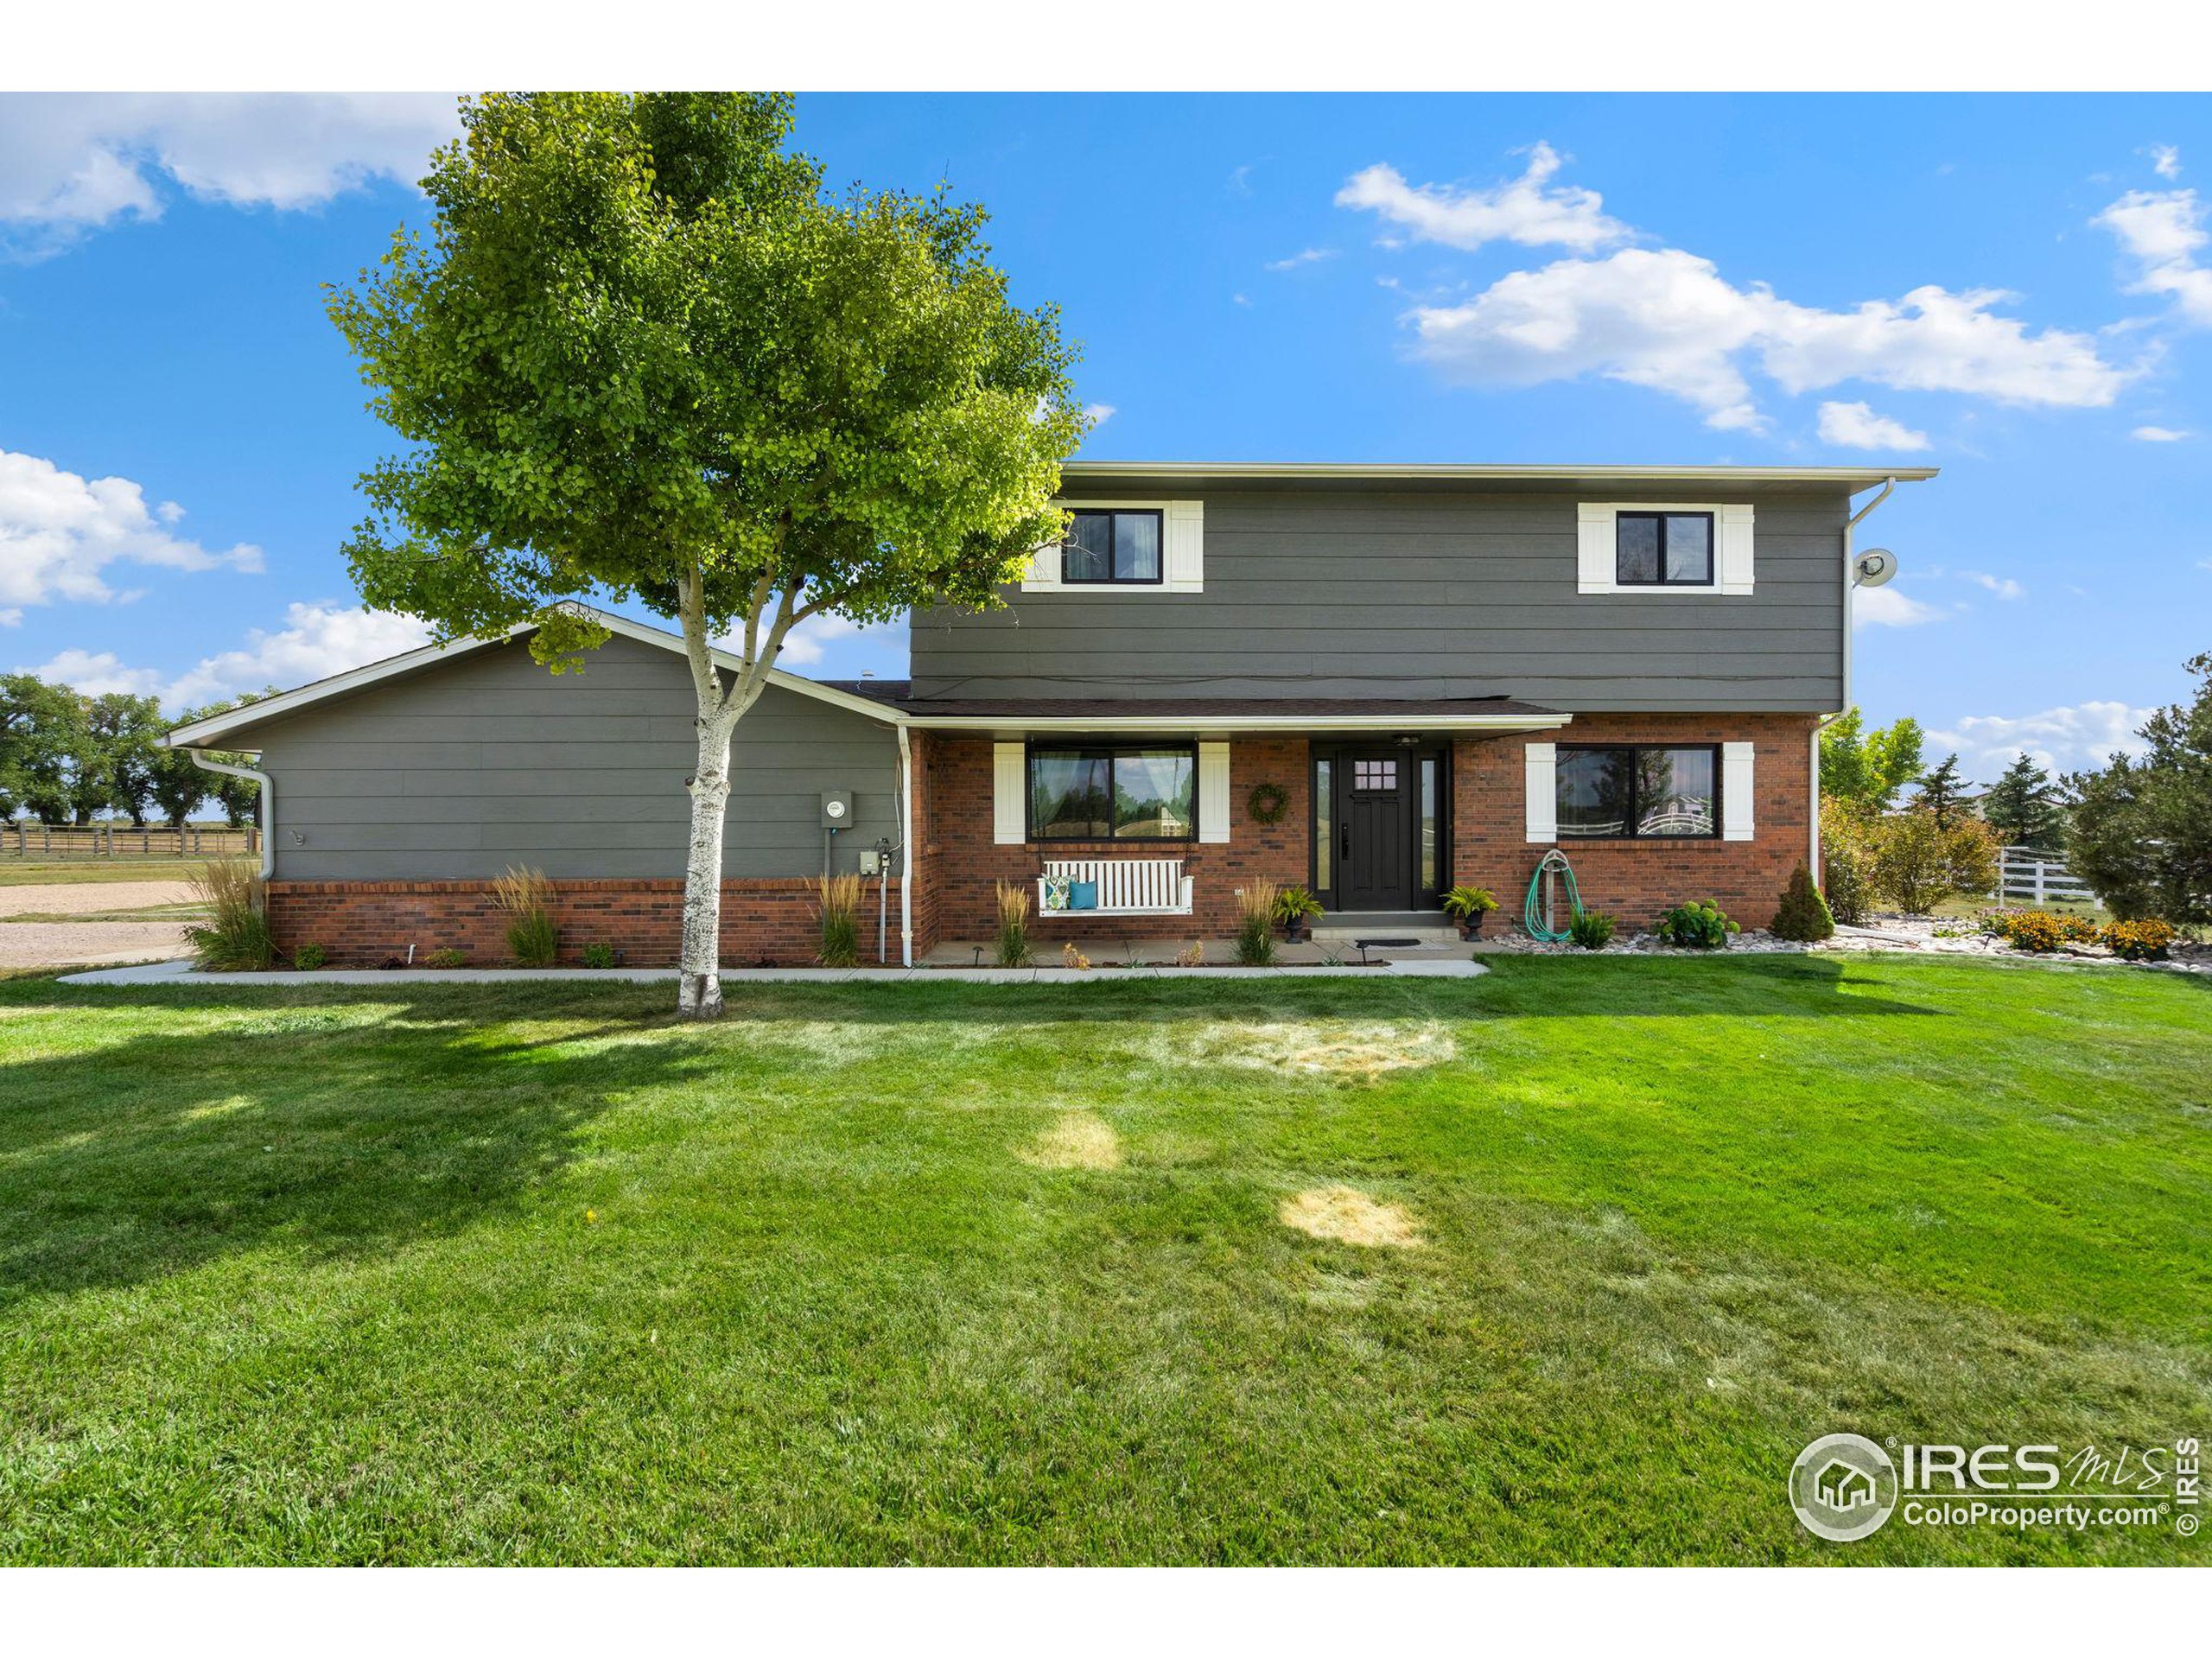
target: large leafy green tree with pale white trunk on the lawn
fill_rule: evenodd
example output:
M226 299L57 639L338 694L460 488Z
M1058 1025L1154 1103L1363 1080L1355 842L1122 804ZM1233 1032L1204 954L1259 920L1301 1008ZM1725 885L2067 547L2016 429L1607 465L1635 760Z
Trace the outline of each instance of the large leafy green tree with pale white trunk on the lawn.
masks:
M604 641L573 599L677 619L677 998L712 1015L737 721L805 617L998 604L1062 533L1071 354L1057 312L1009 303L978 208L825 199L785 95L489 95L460 119L429 241L400 232L330 301L409 445L363 478L354 580L440 637L535 622L555 670Z

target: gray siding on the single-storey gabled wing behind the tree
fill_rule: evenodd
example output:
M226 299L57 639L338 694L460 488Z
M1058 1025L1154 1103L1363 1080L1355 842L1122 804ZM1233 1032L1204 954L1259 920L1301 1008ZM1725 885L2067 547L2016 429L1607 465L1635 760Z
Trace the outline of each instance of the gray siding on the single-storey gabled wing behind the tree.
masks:
M281 880L684 876L692 690L675 653L615 637L582 675L507 644L252 732L276 779ZM770 688L737 726L728 876L823 867L821 794L854 792L836 867L898 841L898 737ZM305 836L305 843L294 841Z

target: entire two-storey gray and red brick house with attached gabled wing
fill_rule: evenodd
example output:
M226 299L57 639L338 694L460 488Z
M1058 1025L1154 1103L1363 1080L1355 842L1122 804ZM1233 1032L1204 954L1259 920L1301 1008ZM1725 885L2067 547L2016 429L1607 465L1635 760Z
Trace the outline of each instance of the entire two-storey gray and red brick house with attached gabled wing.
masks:
M807 960L807 878L878 845L891 960L902 918L916 956L989 938L1000 880L1068 876L1040 898L1097 909L1035 936L1110 945L1228 933L1252 878L1517 911L1553 845L1628 922L1765 925L1849 701L1851 495L1931 476L1071 462L1004 608L916 615L909 681L776 672L739 723L723 960ZM469 639L179 728L272 779L279 940L495 956L491 878L531 863L571 945L675 960L690 681L611 622L582 675Z

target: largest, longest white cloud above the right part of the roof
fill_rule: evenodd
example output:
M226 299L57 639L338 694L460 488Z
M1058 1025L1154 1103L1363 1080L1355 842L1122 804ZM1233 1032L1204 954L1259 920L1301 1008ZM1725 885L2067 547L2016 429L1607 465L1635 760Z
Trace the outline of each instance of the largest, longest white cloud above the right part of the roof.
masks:
M1991 307L2000 290L1916 288L1902 301L1827 312L1728 283L1679 248L1562 259L1491 283L1462 305L1411 314L1420 356L1462 380L1535 385L1597 374L1705 411L1705 425L1763 425L1743 365L1785 392L1874 380L2000 403L2101 407L2126 376L2086 334L2028 334Z

